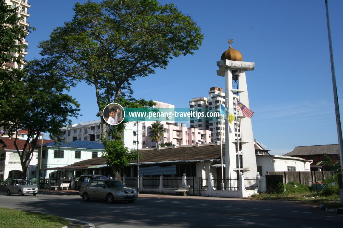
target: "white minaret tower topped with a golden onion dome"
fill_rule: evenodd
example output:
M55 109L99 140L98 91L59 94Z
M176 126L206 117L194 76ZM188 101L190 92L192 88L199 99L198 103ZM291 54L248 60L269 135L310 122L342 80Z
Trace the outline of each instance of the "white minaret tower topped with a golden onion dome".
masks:
M231 47L232 40L228 40L228 43L229 49L222 54L221 61L217 62L219 67L217 75L225 77L225 105L231 113L234 112L232 114L236 117L235 98L249 108L245 71L253 70L255 63L242 62L242 54ZM257 174L251 119L244 117L240 111L237 112L234 123L225 122L225 176L236 178L239 172L251 177Z

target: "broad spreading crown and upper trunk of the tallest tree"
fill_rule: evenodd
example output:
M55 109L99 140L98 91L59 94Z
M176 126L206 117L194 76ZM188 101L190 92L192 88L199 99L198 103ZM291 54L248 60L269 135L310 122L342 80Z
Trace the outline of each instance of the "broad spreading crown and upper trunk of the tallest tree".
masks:
M39 44L45 58L35 66L74 85L94 85L103 133L103 98L108 104L122 93L132 95L132 81L166 68L173 57L193 54L203 39L188 15L157 0L87 1L74 11L70 22Z

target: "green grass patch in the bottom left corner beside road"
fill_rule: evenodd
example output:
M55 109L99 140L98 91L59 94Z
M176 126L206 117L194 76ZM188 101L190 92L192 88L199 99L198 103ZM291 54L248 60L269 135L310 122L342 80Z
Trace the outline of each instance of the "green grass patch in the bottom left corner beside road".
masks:
M0 227L6 228L61 228L67 226L65 218L0 207Z

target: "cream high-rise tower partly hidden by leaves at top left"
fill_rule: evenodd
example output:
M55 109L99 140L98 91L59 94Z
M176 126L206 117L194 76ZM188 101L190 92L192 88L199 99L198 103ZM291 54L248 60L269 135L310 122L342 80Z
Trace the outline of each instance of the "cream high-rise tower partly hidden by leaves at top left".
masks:
M27 9L31 7L30 4L28 4L27 0L6 0L6 4L11 5L13 8L19 7L19 10L17 11L17 16L20 17L19 23L24 25L24 26L29 26L27 23L27 17L30 16L28 13ZM21 38L21 43L24 45L28 45L28 42L26 41L25 37ZM27 55L27 50L23 49L20 52L17 53L11 53L12 55L18 57L22 56L25 57ZM22 69L24 67L25 63L15 63L13 61L10 61L9 63L6 63L6 68L18 68Z

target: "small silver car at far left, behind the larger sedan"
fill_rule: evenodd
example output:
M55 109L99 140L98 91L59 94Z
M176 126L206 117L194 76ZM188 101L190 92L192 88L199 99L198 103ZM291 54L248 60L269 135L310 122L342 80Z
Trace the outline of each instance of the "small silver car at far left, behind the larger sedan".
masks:
M18 194L24 196L25 194L37 195L38 188L29 180L15 179L7 185L7 195Z

